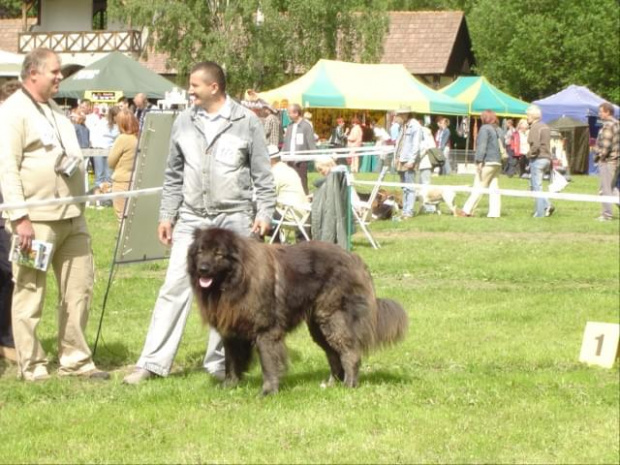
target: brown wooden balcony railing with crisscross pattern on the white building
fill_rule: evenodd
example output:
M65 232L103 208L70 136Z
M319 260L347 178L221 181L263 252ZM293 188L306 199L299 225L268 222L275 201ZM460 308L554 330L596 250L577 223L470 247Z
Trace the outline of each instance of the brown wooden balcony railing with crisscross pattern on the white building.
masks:
M56 53L107 53L142 51L142 33L129 31L22 32L19 53L45 47Z

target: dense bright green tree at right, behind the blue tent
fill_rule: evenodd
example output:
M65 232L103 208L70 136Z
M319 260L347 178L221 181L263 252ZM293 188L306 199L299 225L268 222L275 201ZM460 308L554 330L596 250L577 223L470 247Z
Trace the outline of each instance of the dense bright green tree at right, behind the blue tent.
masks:
M526 100L569 84L620 100L617 0L478 0L468 19L476 71Z

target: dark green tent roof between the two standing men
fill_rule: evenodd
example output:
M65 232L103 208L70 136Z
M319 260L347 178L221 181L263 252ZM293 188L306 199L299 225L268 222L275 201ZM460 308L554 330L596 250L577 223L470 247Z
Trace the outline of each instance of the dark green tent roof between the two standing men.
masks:
M123 91L129 98L143 92L148 98L161 99L173 87L172 82L137 61L112 52L62 81L56 97L81 99L87 90L107 90Z

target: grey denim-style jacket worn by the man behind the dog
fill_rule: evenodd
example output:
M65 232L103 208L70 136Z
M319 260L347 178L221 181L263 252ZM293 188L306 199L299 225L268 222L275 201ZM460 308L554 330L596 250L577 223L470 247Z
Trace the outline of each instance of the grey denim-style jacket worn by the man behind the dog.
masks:
M200 216L252 212L269 222L276 203L263 125L250 110L231 101L210 145L197 108L183 111L170 136L160 221L175 222L180 209Z

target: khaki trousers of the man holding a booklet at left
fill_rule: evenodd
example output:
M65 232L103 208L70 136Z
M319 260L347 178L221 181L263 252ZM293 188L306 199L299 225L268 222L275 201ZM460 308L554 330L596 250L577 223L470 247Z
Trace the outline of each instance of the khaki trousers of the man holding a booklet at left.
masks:
M58 373L87 372L95 365L84 334L94 283L86 220L80 216L59 221L33 221L32 226L35 239L54 244L50 268L58 284ZM19 374L25 379L34 379L35 375L47 372L47 357L36 334L47 273L14 264L13 280L13 335Z

